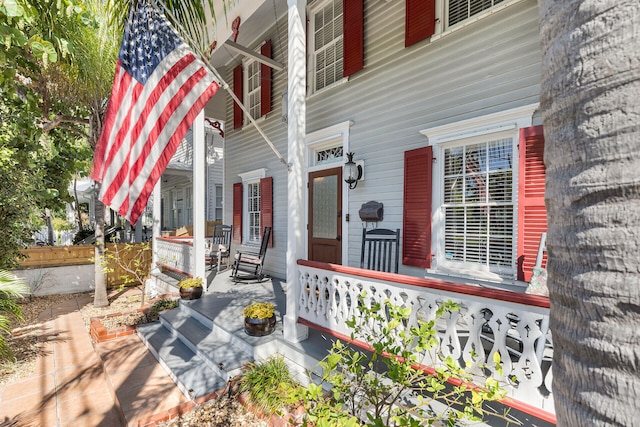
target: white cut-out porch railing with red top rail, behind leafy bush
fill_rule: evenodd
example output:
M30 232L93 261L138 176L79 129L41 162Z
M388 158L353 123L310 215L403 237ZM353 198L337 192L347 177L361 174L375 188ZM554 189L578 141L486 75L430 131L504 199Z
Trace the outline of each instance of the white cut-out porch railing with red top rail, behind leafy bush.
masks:
M298 277L299 320L338 337L350 336L346 320L359 315L357 301L364 291L366 304L384 307L388 299L411 307L408 326L416 326L418 318L435 319L447 300L458 303L459 311L437 322L441 354L476 373L484 365L505 385L512 398L506 404L555 422L548 298L312 261L298 261ZM502 375L493 366L495 353Z

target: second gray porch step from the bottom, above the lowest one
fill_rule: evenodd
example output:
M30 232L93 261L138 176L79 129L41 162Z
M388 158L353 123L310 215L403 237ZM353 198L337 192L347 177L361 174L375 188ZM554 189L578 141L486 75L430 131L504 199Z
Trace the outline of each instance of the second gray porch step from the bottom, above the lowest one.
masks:
M225 380L253 361L246 347L238 345L228 333L215 326L212 330L187 311L166 311L160 315L160 322Z

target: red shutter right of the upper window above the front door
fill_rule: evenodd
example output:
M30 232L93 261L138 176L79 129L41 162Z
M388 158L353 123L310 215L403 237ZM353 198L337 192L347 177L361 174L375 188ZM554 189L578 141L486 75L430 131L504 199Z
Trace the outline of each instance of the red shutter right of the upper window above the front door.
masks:
M344 0L342 5L343 64L342 75L350 75L364 67L363 0Z

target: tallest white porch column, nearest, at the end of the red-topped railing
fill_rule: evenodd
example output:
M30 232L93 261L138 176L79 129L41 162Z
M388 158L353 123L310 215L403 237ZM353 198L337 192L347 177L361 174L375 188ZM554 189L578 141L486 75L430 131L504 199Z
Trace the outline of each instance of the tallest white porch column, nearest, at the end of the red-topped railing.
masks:
M305 90L306 63L306 0L287 0L289 10L288 28L288 160L291 172L288 175L289 220L287 223L287 313L284 317L284 338L290 342L306 339L309 330L297 323L298 280L297 260L305 257Z

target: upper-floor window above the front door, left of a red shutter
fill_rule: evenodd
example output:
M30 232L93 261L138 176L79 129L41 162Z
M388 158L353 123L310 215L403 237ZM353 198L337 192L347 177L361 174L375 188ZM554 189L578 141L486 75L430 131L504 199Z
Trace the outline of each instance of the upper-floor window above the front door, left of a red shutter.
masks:
M310 22L313 34L314 92L342 79L342 0L323 2L314 9Z

